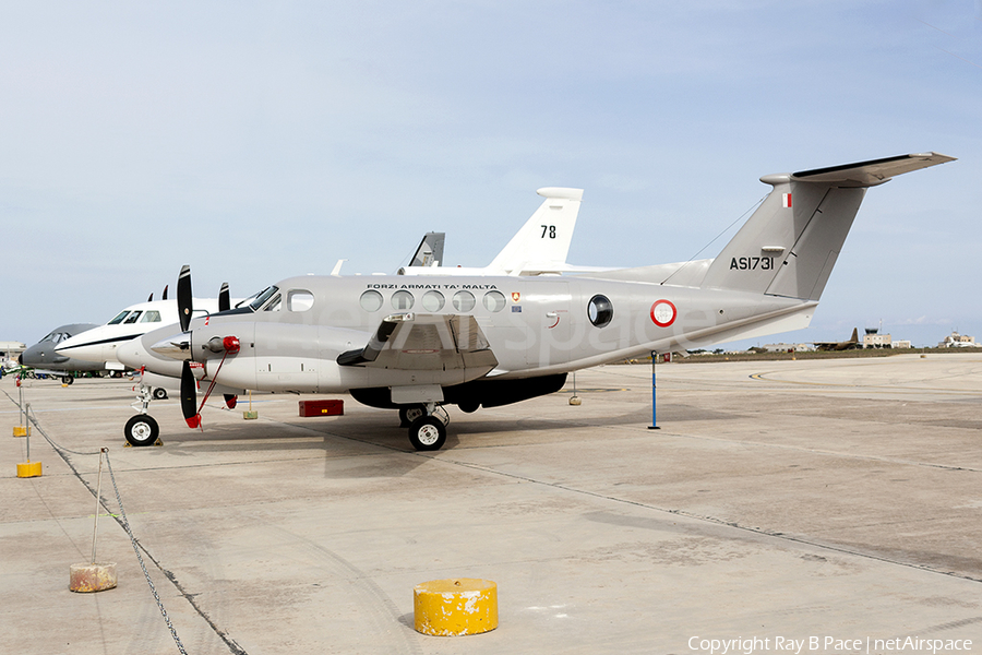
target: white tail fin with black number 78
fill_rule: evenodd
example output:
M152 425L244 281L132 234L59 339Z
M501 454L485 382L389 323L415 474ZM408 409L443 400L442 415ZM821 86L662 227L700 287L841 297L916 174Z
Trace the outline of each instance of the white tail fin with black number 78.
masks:
M546 198L546 202L498 253L489 269L518 275L520 272L550 271L555 264L565 263L583 189L548 187L536 193Z

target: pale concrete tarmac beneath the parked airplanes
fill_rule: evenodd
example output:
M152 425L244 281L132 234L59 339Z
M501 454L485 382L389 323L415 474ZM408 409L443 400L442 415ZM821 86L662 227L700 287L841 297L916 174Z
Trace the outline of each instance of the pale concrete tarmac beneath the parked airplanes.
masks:
M248 421L212 402L197 431L171 394L164 445L123 448L132 384L25 382L75 453L35 431L44 475L17 478L0 380L0 651L982 653L982 354L659 365L659 430L650 366L601 367L580 406L571 379L452 407L435 453L394 412L300 418L290 395ZM99 465L77 453L103 446L119 586L76 594ZM448 577L498 583L496 630L414 630L414 586Z

